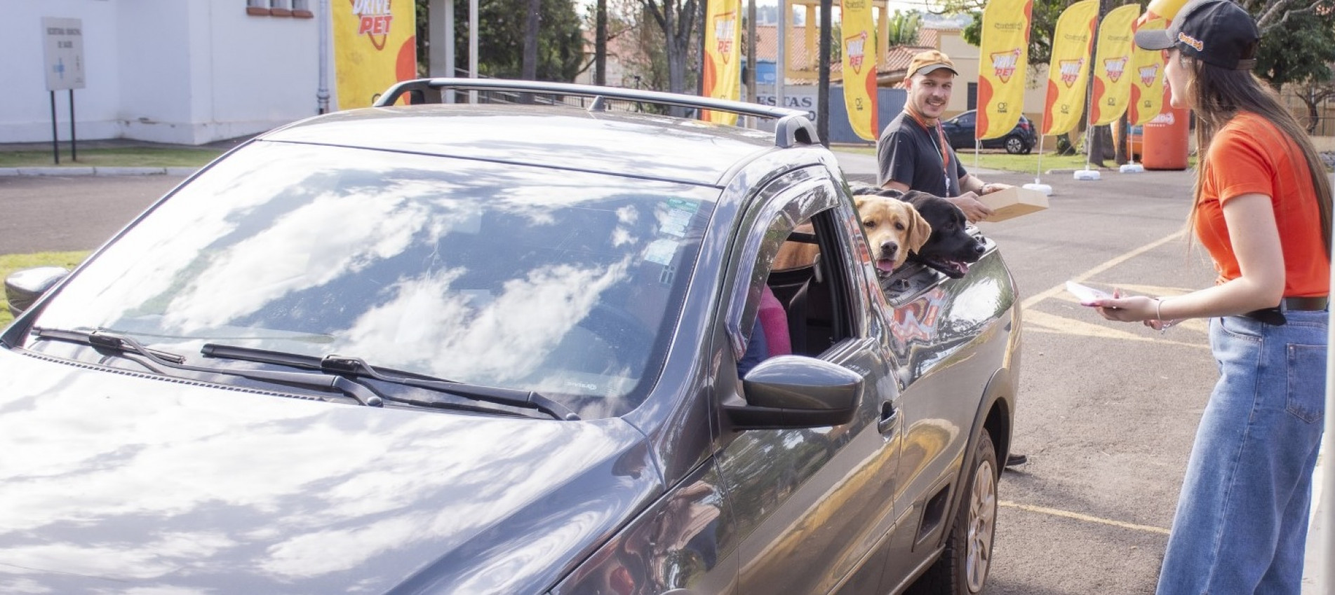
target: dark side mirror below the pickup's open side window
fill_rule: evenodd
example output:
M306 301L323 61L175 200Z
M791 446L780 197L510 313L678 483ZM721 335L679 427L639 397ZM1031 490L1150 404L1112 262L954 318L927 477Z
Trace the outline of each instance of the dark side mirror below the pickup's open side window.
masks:
M780 355L742 379L745 404L725 403L738 430L813 428L853 419L862 376L825 360Z

